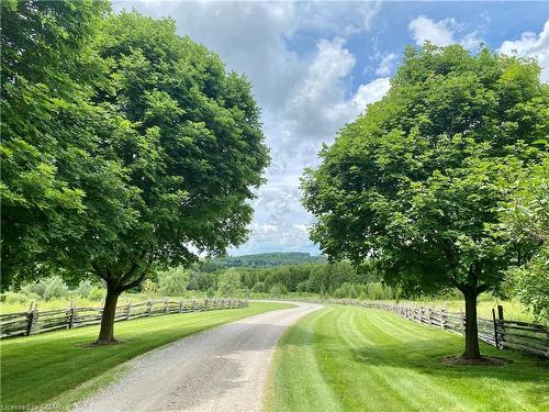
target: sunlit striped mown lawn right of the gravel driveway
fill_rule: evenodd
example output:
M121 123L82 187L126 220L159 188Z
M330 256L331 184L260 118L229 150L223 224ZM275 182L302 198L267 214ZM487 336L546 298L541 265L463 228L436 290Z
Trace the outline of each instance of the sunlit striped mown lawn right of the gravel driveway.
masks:
M445 366L463 338L373 309L327 307L289 329L266 410L549 411L549 363L482 344L506 366Z

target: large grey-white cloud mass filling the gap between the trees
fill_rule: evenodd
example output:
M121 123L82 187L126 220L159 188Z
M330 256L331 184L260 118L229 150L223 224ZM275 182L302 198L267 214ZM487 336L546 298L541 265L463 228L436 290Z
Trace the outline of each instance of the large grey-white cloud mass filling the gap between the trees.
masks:
M244 73L262 108L264 132L271 148L268 182L257 191L249 241L237 254L318 249L306 229L313 216L301 205L299 178L316 166L323 142L363 112L389 88L388 79L356 92L350 75L357 58L343 37L370 30L379 2L210 2L115 1L122 8L171 16L177 32L217 53L231 70ZM314 19L311 16L314 15ZM322 33L316 48L291 44L301 33ZM300 53L295 52L300 49ZM311 53L312 52L312 53Z

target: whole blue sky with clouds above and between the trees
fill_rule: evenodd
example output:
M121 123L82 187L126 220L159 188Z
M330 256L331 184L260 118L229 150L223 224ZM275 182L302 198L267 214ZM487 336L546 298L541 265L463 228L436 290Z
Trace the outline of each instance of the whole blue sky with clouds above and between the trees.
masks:
M114 1L114 10L171 16L178 34L244 73L262 107L272 163L254 201L249 241L233 255L310 252L314 222L299 177L337 130L379 100L406 45L482 42L535 57L549 81L548 2L182 2Z

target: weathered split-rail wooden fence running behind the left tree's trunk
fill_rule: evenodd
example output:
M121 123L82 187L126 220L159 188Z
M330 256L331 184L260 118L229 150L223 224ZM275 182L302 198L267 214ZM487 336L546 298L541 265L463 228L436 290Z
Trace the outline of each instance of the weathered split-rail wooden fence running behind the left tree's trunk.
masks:
M203 312L220 309L248 307L246 299L197 299L168 300L152 299L141 303L125 303L116 307L115 322L131 319L170 314ZM0 337L29 336L37 333L92 325L101 322L103 308L74 307L38 311L31 303L29 311L0 314Z

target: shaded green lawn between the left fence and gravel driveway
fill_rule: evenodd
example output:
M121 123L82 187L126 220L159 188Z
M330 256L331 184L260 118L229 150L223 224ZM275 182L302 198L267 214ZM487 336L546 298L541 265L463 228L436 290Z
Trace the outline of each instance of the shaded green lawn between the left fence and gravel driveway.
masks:
M115 366L147 350L226 322L290 307L285 303L250 302L249 308L244 309L117 322L114 333L123 343L102 347L86 346L97 338L99 325L1 341L0 404L77 401L114 379ZM93 385L81 386L92 379ZM77 387L76 391L71 391ZM66 404L61 407L66 408Z

